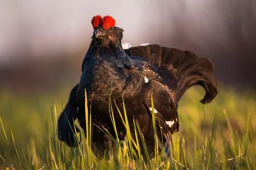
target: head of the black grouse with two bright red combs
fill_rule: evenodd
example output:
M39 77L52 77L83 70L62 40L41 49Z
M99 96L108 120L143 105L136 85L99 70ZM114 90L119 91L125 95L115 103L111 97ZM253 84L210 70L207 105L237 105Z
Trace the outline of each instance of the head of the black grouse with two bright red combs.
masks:
M109 45L109 43L121 45L123 29L115 26L115 19L109 15L101 17L95 15L92 18L93 36L92 39L98 45Z

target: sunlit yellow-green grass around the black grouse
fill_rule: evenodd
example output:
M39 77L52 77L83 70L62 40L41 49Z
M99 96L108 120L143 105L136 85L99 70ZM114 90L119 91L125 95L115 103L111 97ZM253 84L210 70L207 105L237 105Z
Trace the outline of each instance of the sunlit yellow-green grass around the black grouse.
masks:
M143 157L145 145L138 123L129 127L125 141L112 136L112 150L103 159L88 148L91 133L90 108L86 111L86 136L83 131L78 148L69 148L58 141L56 123L68 90L60 95L26 97L0 92L0 169L255 169L256 167L256 98L252 92L239 92L220 87L211 104L200 104L204 91L193 87L179 103L180 131L173 135L171 157L164 158L156 150L155 159ZM55 104L54 104L55 103ZM125 103L124 103L125 104ZM52 105L52 107L51 107ZM115 103L111 104L115 106ZM153 109L154 110L154 109ZM122 111L120 111L121 113ZM109 110L113 124L115 117ZM154 113L153 113L154 115ZM156 122L154 119L153 122ZM77 122L75 122L77 124ZM135 139L130 128L136 129ZM156 127L154 126L154 129ZM117 134L117 132L116 132ZM86 140L88 139L88 140ZM161 139L155 138L157 145ZM122 145L122 147L121 147ZM159 155L159 156L157 156ZM137 160L133 158L138 158Z

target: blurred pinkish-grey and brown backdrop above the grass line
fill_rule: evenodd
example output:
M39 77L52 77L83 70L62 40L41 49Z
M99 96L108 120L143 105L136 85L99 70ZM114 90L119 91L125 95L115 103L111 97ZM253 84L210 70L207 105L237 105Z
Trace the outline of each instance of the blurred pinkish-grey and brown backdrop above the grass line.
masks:
M221 83L256 87L256 1L0 0L0 87L49 92L79 81L93 15L111 15L123 43L190 50Z

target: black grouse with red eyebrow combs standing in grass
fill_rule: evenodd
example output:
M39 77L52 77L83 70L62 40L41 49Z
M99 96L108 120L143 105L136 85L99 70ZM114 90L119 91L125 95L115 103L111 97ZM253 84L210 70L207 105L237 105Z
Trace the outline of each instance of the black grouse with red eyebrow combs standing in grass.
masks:
M107 129L113 136L116 135L109 116L109 99L120 111L124 109L124 100L130 127L133 127L132 120L138 122L147 151L152 153L155 149L153 111L157 122L157 136L161 138L163 134L165 143L168 136L179 131L177 109L186 90L193 85L202 86L205 96L200 102L203 104L210 103L218 94L214 65L210 60L189 51L157 44L134 46L124 50L124 30L115 26L113 17L107 15L102 18L95 15L91 23L92 42L83 60L80 81L70 92L69 101L58 120L59 139L65 141L68 146L77 145L74 139L67 142L70 133L77 128L67 127L68 120L77 118L80 126L83 129L86 127L84 90L92 122L96 125L92 127L92 141L99 155L107 148L108 141L100 128ZM68 111L69 113L65 113ZM124 139L125 127L116 107L113 107L113 114L118 138ZM134 131L131 130L131 134L134 137ZM167 155L168 153L169 148L166 150Z

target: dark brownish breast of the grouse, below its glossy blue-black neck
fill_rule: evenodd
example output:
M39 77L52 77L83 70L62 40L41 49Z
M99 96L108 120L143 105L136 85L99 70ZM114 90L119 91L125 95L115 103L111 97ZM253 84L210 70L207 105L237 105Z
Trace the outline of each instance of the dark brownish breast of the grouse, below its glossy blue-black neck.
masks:
M94 64L91 69L85 70L79 83L82 90L78 93L81 96L86 89L93 122L105 127L111 124L109 99L111 99L114 117L117 119L120 116L118 110L124 110L123 96L129 120L140 110L143 104L141 89L144 84L144 77L140 73L108 62ZM116 122L116 127L122 127L122 125L121 119Z

